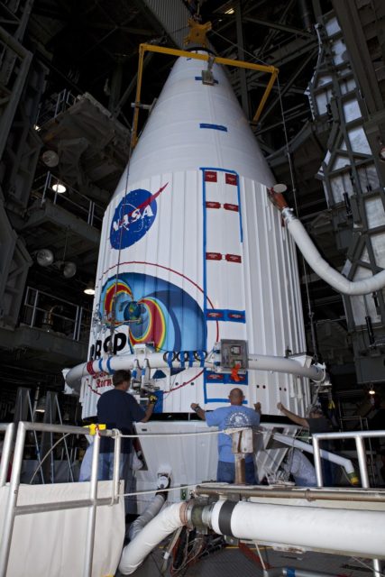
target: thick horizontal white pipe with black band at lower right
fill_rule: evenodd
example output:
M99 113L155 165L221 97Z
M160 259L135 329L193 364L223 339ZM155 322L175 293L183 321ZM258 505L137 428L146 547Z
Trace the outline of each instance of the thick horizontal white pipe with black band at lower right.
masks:
M384 557L384 511L311 508L219 500L211 511L215 533L358 557Z

